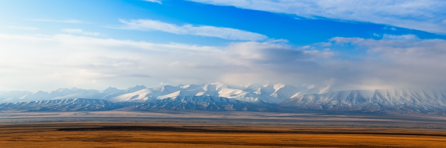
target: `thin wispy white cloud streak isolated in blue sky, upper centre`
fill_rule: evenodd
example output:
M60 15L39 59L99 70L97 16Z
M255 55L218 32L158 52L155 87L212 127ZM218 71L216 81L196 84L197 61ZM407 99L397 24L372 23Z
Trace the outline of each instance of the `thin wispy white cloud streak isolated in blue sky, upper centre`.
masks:
M131 30L157 30L178 35L194 35L203 37L219 37L230 40L265 40L268 37L265 35L252 33L248 31L224 28L224 27L214 27L214 26L193 26L186 24L183 26L177 26L175 24L169 24L156 20L120 20L122 23L126 24L122 29Z

